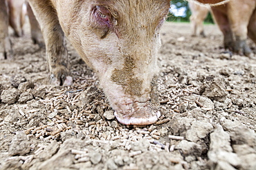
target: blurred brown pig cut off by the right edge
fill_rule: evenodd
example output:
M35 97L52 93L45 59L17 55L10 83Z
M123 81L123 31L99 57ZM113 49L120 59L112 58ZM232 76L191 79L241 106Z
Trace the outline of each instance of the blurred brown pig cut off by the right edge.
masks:
M246 39L249 36L256 43L256 0L236 0L212 6L212 14L223 33L224 47L241 55L253 56Z

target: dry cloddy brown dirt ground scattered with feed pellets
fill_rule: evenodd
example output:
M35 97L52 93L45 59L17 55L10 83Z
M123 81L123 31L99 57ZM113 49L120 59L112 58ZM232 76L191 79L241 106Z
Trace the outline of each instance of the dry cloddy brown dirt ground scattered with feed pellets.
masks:
M117 122L71 45L73 85L48 85L28 27L22 38L10 30L14 56L0 63L0 169L256 169L256 59L225 53L216 25L201 38L165 23L162 116L144 127Z

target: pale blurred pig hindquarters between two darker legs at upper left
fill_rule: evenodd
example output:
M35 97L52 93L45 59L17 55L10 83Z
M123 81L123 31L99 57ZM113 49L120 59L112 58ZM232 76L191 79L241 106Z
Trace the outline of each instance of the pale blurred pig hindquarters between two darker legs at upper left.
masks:
M7 0L9 8L9 24L15 32L15 36L24 34L23 25L25 23L26 6L25 0Z

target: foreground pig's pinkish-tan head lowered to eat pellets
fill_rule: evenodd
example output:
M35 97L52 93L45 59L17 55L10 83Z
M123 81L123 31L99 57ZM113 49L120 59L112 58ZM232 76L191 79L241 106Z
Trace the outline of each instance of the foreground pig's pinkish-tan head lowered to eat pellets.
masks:
M158 73L159 29L170 1L60 3L56 9L62 28L82 59L98 74L118 121L126 125L155 123L160 112L154 102L152 80Z

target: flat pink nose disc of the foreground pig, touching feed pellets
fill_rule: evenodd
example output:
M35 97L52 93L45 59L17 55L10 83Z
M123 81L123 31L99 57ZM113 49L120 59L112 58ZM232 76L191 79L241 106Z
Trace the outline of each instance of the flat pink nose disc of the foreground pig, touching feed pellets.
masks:
M150 101L129 103L129 110L116 109L116 119L125 125L150 125L156 123L161 113Z

